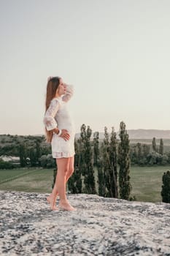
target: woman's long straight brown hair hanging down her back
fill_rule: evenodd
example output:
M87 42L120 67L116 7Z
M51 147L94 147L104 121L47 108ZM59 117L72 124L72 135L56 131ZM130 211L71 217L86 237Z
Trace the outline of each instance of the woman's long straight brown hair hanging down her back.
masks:
M59 84L60 84L59 77L53 77L48 80L46 100L45 100L45 112L47 111L47 108L49 108L51 100L55 97L56 90L58 89ZM53 138L53 132L47 131L47 128L45 127L45 134L46 134L46 141L50 143Z

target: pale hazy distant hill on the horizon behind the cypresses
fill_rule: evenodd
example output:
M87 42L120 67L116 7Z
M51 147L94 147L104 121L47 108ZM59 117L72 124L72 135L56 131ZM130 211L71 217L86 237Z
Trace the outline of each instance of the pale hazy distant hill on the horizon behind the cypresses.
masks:
M130 139L170 139L170 129L128 129L127 130ZM117 132L118 138L119 132ZM80 137L80 133L76 134L76 138ZM92 136L93 138L93 136ZM99 138L104 138L104 132L99 132Z

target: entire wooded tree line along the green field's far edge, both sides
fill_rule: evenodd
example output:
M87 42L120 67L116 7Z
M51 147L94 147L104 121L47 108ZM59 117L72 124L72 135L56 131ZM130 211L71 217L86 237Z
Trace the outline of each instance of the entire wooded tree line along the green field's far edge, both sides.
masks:
M93 140L94 145L96 140L94 136L97 136L97 134L99 136L98 132L90 135L90 140ZM104 140L107 143L107 139L104 138ZM90 146L93 146L93 143L90 143ZM75 146L77 146L76 144L77 140L75 140ZM98 138L98 150L100 151L101 144L101 139ZM93 154L95 155L94 158L98 157L96 155L97 151ZM103 154L106 154L106 152L103 151ZM45 136L0 135L0 156L2 155L19 157L20 167L55 167L50 145L45 143ZM155 138L152 139L151 145L146 143L131 144L129 157L131 165L154 166L170 164L170 152L164 152L163 139L160 139L158 146ZM18 165L12 162L4 162L0 159L0 169L13 167L18 167Z

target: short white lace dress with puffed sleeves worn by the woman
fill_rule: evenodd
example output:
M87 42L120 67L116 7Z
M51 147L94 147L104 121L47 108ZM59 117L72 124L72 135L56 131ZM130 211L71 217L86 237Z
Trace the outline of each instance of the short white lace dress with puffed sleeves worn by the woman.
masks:
M45 113L44 124L48 131L55 129L67 129L70 135L69 140L64 140L53 133L51 141L53 158L73 157L74 152L74 123L66 108L66 102L72 97L73 87L66 86L66 94L63 97L54 98Z

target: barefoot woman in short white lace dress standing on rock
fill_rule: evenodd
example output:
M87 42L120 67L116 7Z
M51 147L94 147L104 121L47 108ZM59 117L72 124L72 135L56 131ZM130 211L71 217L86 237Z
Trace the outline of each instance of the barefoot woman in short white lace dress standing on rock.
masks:
M57 195L60 197L59 208L75 210L66 199L66 182L74 172L74 124L66 108L66 102L72 94L72 86L63 83L61 78L48 79L44 124L47 142L51 143L58 167L53 191L47 197L52 210L58 210L55 206Z

